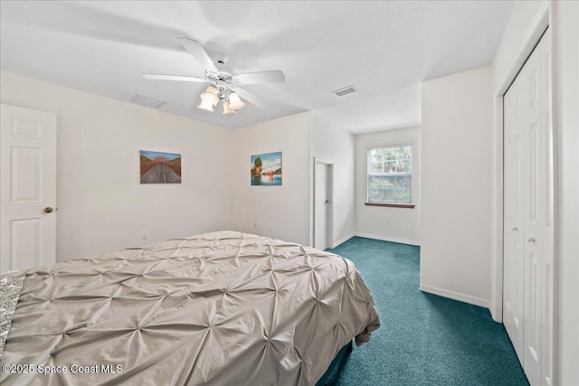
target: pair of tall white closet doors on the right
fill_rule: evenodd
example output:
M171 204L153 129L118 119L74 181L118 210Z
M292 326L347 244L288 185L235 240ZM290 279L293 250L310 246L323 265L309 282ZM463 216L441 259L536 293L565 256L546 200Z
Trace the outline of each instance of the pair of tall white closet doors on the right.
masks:
M552 380L550 34L505 94L504 321L531 385Z

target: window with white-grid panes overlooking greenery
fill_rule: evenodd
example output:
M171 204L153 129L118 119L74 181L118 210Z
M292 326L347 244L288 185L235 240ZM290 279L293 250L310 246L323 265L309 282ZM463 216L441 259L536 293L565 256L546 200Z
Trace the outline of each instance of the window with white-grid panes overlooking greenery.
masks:
M413 146L368 149L368 202L411 203Z

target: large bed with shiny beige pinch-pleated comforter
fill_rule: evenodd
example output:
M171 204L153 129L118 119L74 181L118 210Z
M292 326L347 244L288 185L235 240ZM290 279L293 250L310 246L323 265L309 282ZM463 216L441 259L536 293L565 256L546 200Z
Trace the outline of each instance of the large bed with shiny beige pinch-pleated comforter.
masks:
M313 385L380 325L351 261L236 231L18 275L3 385Z

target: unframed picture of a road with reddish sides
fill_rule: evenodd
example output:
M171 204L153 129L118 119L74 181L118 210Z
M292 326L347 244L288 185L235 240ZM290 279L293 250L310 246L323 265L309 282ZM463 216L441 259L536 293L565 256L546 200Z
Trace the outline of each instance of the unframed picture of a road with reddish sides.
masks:
M181 184L181 155L141 150L141 184Z

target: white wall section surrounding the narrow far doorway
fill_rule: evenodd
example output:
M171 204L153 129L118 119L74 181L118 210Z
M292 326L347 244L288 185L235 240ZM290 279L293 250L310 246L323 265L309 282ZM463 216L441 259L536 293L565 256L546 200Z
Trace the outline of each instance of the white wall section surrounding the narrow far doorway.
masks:
M334 163L334 240L335 245L351 238L356 231L354 204L355 139L352 133L332 127L315 111L311 112L310 173L313 187L314 157ZM313 221L314 190L311 189L311 219ZM310 223L310 243L313 240L313 222Z

